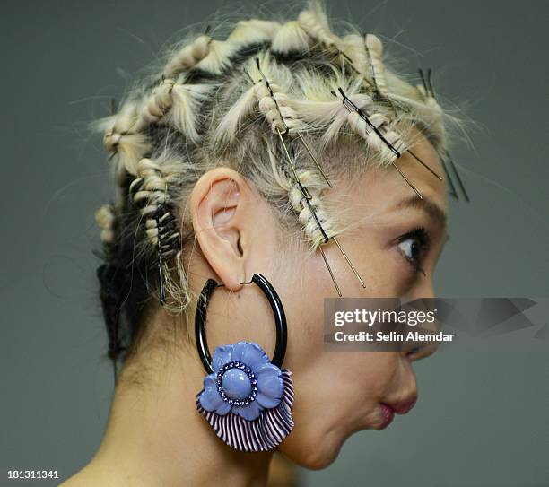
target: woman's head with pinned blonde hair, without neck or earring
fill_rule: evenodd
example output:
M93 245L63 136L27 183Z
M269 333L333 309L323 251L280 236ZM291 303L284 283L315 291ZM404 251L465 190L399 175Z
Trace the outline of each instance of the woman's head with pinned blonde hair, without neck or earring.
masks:
M445 116L384 65L378 38L335 35L318 4L218 35L171 50L101 122L119 187L98 213L109 354L146 360L167 343L193 354L209 277L224 284L208 308L211 346L247 340L272 353L270 308L240 284L266 275L288 318L296 389L280 449L326 466L354 431L383 426L383 404L414 402L410 364L430 351L324 352L323 300L432 295Z

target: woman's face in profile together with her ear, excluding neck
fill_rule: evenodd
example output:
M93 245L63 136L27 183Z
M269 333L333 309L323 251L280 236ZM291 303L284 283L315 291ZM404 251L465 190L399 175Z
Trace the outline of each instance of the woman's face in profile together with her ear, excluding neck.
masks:
M436 174L443 174L431 143L417 131L414 140L414 155ZM397 164L423 199L391 166L367 169L360 178L335 185L324 196L336 213L354 223L338 241L362 275L365 288L334 244L324 248L344 297L433 297L433 273L447 235L445 181L407 152ZM319 252L307 254L302 248L281 246L280 230L266 201L244 179L233 172L229 175L234 179L225 178L227 174L220 170L216 177L198 183L191 204L197 239L223 282L261 272L274 283L288 320L283 366L292 370L295 387L295 427L279 449L300 465L322 468L335 460L353 433L382 430L395 414L414 406L418 392L412 364L433 348L325 351L324 299L336 293L323 258ZM202 194L207 197L197 196ZM203 220L201 215L213 217ZM274 350L272 312L257 296L257 290L240 287L213 300L208 311L213 322L211 344L246 339L267 352ZM234 316L240 319L220 324L223 317Z

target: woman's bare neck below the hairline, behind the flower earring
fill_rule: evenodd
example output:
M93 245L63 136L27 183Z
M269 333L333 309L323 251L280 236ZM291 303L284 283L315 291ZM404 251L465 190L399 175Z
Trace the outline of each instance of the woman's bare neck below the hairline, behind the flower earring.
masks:
M181 348L167 350L125 364L88 469L112 485L266 485L272 455L238 452L218 439L196 411L205 376L199 361Z

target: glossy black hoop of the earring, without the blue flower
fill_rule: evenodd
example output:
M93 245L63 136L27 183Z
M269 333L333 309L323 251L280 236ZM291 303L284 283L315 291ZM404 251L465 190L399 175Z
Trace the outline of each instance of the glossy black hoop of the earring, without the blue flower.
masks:
M288 326L286 323L286 315L284 314L282 302L276 291L274 291L274 287L266 280L264 275L254 274L251 281L240 284L251 283L256 283L259 289L265 293L266 298L273 309L274 325L276 326L276 345L274 347L274 355L271 363L277 367L282 367L284 355L286 353L286 344L288 343ZM216 283L212 278L208 279L202 292L200 293L200 297L198 298L198 303L196 305L196 349L198 351L200 361L202 361L202 365L208 374L213 373L213 367L212 355L208 350L208 343L206 339L206 310L213 291L222 286L224 286L224 284Z

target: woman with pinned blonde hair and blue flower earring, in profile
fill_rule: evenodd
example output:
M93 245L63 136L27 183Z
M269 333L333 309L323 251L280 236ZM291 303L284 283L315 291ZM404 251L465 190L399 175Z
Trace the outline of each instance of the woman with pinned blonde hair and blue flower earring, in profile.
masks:
M417 398L412 363L432 350L324 352L323 300L433 294L448 116L430 80L394 74L373 35L336 35L316 3L222 27L100 123L116 389L69 487L264 485L274 450L326 467Z

